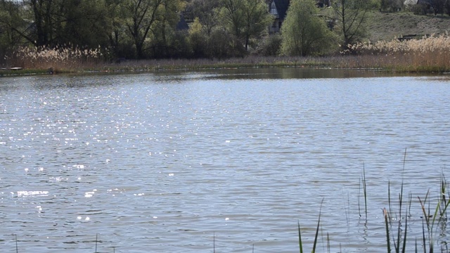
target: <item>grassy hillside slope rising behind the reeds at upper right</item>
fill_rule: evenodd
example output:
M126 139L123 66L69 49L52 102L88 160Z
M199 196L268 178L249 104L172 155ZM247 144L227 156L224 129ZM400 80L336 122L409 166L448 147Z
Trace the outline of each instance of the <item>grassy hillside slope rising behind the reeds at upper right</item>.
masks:
M368 29L369 39L390 41L394 37L416 34L450 34L450 17L448 15L415 15L409 12L399 13L371 13Z

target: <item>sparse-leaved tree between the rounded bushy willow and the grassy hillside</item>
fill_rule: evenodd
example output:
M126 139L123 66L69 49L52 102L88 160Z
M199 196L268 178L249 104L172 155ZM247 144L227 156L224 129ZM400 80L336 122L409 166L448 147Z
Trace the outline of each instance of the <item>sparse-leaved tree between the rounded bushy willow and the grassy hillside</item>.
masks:
M355 44L367 37L368 11L371 1L366 0L335 0L335 31L341 37L342 48L348 49L349 44Z

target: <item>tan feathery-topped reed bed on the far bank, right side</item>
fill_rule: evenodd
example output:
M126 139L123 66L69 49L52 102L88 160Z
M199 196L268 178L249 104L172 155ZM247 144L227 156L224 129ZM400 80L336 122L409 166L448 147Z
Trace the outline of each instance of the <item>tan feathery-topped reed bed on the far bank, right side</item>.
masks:
M378 41L349 45L357 56L342 61L347 67L380 67L397 72L449 72L450 36L431 35L422 39ZM343 66L342 66L343 67Z

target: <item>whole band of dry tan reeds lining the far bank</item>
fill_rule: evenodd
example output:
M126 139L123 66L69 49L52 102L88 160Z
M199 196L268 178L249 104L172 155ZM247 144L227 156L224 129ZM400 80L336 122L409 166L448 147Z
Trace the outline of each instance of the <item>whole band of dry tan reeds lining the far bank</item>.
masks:
M101 60L100 51L67 48L23 48L8 59L10 67L1 75L63 72L136 72L158 70L204 70L243 67L334 67L376 68L387 72L450 72L450 36L430 35L421 39L378 41L349 46L336 56L288 57L248 56L218 59Z

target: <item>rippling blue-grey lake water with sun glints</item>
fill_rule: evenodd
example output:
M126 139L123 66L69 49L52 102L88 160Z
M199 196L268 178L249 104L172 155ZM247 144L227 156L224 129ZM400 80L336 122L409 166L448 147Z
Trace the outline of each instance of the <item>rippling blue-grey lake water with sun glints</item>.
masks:
M423 250L418 196L434 209L448 176L449 102L448 75L4 77L0 249L298 252L298 222L310 251L321 210L318 252L386 252L403 182L407 245Z

